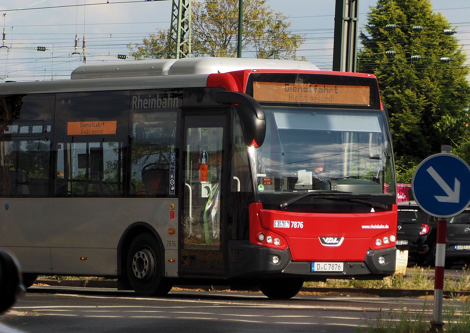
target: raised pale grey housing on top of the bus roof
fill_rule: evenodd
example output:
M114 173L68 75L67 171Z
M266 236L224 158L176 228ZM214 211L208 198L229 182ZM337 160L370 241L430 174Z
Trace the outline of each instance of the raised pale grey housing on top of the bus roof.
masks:
M319 70L319 68L313 63L305 61L199 57L179 60L139 60L84 65L74 70L71 78L212 74L227 73L235 70Z

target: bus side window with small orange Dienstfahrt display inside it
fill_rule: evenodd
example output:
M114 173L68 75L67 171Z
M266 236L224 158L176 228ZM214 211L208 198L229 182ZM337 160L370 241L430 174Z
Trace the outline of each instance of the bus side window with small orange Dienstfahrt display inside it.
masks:
M124 197L129 91L57 93L56 197Z

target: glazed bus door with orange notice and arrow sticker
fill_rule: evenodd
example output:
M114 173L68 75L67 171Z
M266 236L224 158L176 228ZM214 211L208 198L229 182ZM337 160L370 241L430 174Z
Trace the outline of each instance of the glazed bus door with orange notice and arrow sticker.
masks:
M185 116L179 275L226 277L227 115Z

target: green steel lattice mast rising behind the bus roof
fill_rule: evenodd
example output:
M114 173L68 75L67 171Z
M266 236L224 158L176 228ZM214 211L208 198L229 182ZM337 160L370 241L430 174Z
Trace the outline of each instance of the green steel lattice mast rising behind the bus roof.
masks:
M191 0L172 0L168 58L191 57Z

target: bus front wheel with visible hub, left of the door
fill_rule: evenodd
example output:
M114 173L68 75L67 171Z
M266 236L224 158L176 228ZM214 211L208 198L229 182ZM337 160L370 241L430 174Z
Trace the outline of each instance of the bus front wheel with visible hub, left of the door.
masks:
M141 233L131 242L126 269L132 289L141 296L163 296L172 289L163 276L160 246L149 233Z

